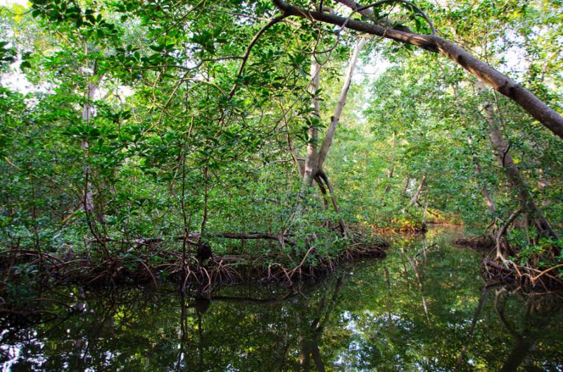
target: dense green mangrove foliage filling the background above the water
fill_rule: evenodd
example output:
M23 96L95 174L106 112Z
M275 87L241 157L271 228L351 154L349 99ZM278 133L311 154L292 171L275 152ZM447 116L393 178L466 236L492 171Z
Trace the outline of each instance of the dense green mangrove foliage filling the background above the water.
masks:
M388 27L431 32L417 8L383 3L374 16ZM350 14L334 1L324 6ZM442 37L563 112L559 2L417 6ZM1 8L0 245L134 255L143 246L132 240L198 233L216 253L279 247L213 238L259 232L291 236L296 245L280 248L290 257L311 245L334 257L346 246L342 222L356 232L426 220L483 231L519 205L511 242L536 253L562 245L561 139L441 56L279 14L267 0ZM324 196L329 181L304 186L300 165L320 146L312 134L327 132L353 46L366 37L324 166L334 192ZM311 65L322 65L318 87ZM502 151L489 141L485 106L505 137ZM507 176L509 150L526 200ZM182 240L168 245L180 248ZM561 259L559 250L541 257Z

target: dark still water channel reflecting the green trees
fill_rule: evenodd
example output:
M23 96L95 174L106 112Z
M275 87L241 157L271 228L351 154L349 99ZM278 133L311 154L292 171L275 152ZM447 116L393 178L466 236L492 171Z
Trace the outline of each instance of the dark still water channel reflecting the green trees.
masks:
M295 290L71 288L77 310L1 324L1 371L563 371L559 297L483 288L459 233L395 238L386 259Z

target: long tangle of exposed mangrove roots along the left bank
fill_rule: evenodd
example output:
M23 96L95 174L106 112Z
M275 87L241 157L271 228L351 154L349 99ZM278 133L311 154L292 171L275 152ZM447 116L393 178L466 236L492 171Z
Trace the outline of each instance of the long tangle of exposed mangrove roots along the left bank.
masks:
M290 259L277 252L260 257L213 255L204 262L199 262L193 255L186 257L177 250L154 247L143 257L116 255L104 259L64 259L46 252L13 249L0 252L0 270L3 274L0 293L6 291L8 282L18 283L24 277L51 288L68 283L80 286L153 283L158 286L161 281L173 281L179 283L183 290L198 288L201 292L220 283L240 281L276 282L292 286L297 281L315 279L334 271L341 262L360 257L384 257L387 247L388 243L382 240L362 240L350 242L340 255L330 258L321 257L312 247L301 258ZM155 262L155 257L158 257L158 262ZM27 277L23 274L29 272L34 274ZM0 303L0 312L11 311L15 309Z

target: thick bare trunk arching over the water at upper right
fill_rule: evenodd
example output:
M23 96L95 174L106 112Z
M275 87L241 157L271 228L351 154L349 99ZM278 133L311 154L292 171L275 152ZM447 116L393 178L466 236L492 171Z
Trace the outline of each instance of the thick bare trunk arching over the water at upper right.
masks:
M323 13L320 11L309 11L303 8L292 6L283 0L272 0L274 4L284 15L295 15L301 18L310 18L322 23L329 23L331 25L343 26L350 30L365 32L367 34L374 34L379 37L399 41L403 44L410 44L418 46L419 48L432 51L434 53L441 53L444 56L453 60L453 62L460 65L469 73L477 77L479 80L486 82L498 91L500 94L507 96L526 110L538 122L543 124L544 127L550 129L551 132L563 139L563 117L555 110L552 110L548 105L540 101L531 91L524 89L524 87L514 82L506 75L498 70L495 70L490 65L481 62L471 53L468 53L460 46L452 42L438 37L436 34L422 35L412 32L404 32L395 30L389 27L383 27L377 24L362 22L360 20L353 20L350 18L341 17L330 13ZM337 0L343 4L359 4L350 1Z

